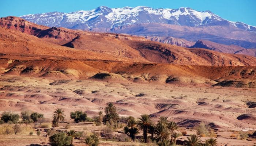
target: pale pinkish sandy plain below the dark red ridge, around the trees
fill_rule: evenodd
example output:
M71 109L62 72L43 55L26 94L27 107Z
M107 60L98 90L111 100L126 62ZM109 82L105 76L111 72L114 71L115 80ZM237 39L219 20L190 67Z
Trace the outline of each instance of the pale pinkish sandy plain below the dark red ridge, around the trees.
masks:
M72 111L85 111L88 117L104 111L107 103L112 102L119 116L134 116L151 114L157 123L160 116L178 123L179 132L187 131L187 136L196 134L200 122L209 124L217 135L218 145L256 145L253 138L237 140L239 131L256 129L255 88L222 88L222 87L184 87L169 84L137 84L134 82L109 82L98 80L53 80L49 78L0 77L0 109L20 114L21 111L31 110L44 114L44 118L52 119L52 113L57 108L63 108L66 115L65 123L60 123L60 129L67 131L65 126L70 123L68 130L100 132L106 125L95 126L93 122L74 123L69 117ZM13 125L13 124L12 124ZM12 126L11 125L11 126ZM50 124L51 125L51 124ZM9 124L0 125L1 130ZM37 124L22 124L22 132L14 135L0 135L1 145L48 145L49 137L45 137L45 128ZM123 126L125 124L123 123ZM30 127L30 128L28 128ZM187 128L187 129L186 129ZM38 136L37 130L42 132ZM33 131L32 135L29 133ZM0 131L1 132L1 131ZM115 130L121 134L123 127ZM143 135L140 131L138 135ZM150 136L150 134L148 134ZM204 135L201 135L204 136ZM205 140L208 137L201 137ZM181 136L179 140L187 139ZM82 140L74 139L74 145L82 146ZM43 142L43 143L42 143ZM118 142L117 139L105 142L102 137L100 145L149 145L138 142Z

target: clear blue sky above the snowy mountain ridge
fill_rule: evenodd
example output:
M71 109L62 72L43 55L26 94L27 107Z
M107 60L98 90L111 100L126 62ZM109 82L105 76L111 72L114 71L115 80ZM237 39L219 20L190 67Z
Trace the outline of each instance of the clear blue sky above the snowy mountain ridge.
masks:
M91 10L101 5L110 8L138 5L152 8L190 7L197 11L210 10L224 19L256 26L256 0L0 0L0 5L0 17Z

